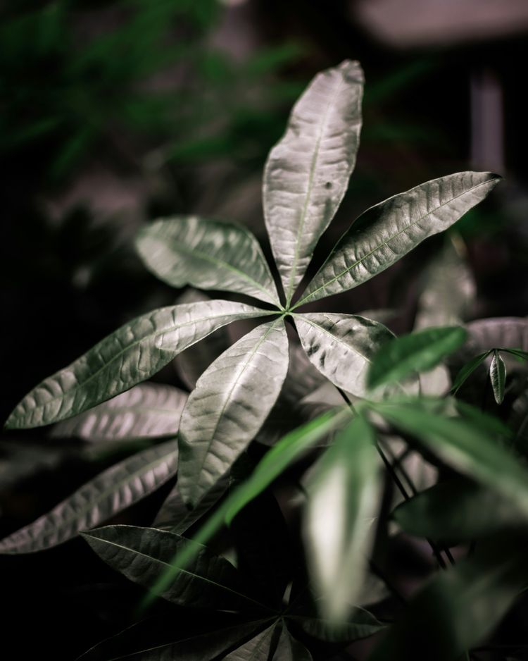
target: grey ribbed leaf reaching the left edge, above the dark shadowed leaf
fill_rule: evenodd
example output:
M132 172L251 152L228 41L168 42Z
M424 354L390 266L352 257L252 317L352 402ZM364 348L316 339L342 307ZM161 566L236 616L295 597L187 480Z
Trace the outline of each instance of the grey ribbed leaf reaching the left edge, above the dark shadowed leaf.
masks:
M175 440L150 447L103 471L29 526L0 542L0 553L51 548L94 528L168 481L177 471Z

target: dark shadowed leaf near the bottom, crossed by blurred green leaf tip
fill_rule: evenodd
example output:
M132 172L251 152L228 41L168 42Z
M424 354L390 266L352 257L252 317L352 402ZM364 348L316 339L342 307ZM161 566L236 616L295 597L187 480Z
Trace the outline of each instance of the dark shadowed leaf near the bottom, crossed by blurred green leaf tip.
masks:
M192 544L196 551L193 561L165 588L163 598L187 607L265 609L246 595L230 562L175 533L135 526L106 526L82 536L106 564L145 588L156 583L182 545Z

